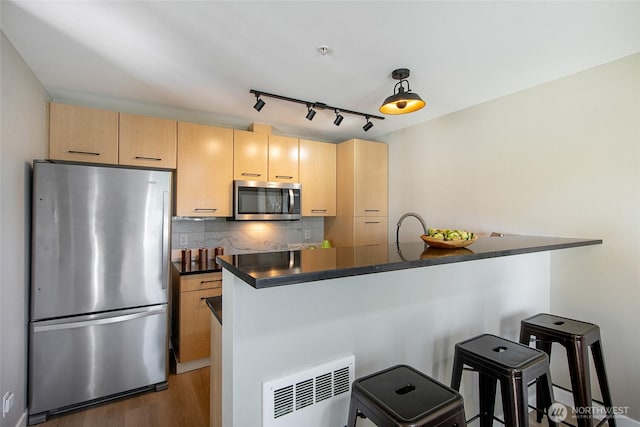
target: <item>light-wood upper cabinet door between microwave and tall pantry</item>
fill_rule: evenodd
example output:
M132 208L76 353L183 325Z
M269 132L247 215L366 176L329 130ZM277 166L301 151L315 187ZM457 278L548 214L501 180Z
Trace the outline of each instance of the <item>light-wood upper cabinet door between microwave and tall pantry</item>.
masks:
M302 216L336 215L336 145L300 140Z

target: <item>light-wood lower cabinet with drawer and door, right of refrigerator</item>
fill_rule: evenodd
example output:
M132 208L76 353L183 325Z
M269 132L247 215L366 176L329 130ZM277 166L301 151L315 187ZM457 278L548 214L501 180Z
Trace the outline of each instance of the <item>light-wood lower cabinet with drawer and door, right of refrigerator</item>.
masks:
M206 299L222 295L222 273L179 276L173 286L172 340L179 363L210 357L211 310Z

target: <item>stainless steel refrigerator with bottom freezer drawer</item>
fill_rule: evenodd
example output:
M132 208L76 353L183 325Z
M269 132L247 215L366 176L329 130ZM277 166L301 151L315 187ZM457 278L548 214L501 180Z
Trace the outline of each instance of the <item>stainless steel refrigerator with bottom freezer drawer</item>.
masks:
M168 375L171 172L34 161L29 424Z

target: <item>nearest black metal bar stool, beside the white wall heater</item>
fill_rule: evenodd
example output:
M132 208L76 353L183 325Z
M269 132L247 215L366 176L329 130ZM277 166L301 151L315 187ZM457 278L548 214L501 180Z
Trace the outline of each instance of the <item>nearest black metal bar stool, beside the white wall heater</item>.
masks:
M358 416L379 427L462 427L462 396L408 365L396 365L353 382L348 427Z

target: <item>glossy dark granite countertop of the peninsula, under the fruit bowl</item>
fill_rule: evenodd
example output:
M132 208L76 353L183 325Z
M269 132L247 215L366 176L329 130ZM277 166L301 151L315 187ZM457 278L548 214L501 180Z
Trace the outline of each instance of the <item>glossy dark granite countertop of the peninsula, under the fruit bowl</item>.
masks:
M260 289L599 244L602 244L601 239L505 235L480 237L470 246L460 249L425 247L420 241L222 255L218 260L222 267L254 288Z

